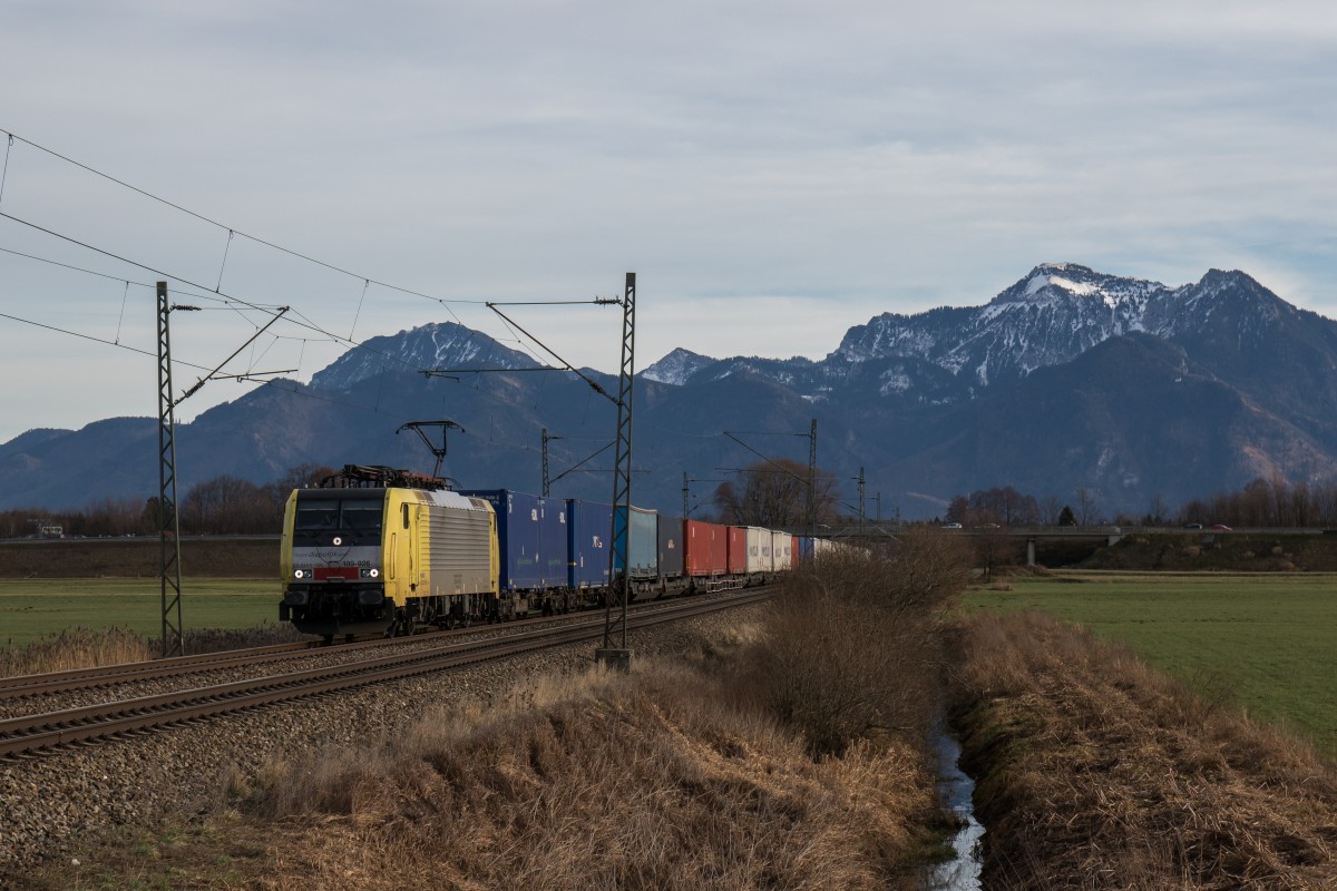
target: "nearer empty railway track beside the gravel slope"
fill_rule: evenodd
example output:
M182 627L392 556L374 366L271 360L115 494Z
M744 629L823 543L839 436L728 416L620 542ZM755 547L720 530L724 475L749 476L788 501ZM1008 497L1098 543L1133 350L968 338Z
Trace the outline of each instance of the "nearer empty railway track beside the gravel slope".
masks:
M731 594L727 597L689 598L667 602L646 604L627 618L627 628L678 621L702 616L719 609L747 605L770 597L771 592L762 588L755 592ZM39 757L63 747L94 744L134 733L170 728L174 725L209 720L221 715L245 712L271 705L336 693L356 687L380 684L414 675L449 671L481 661L504 659L529 653L548 647L575 644L603 636L603 616L579 618L536 629L517 629L504 637L461 641L452 637L440 644L405 648L389 655L378 655L361 660L345 661L314 669L271 675L227 684L215 684L189 691L146 696L114 703L102 703L43 715L27 715L0 721L0 759ZM405 639L412 640L412 639ZM382 644L385 641L373 641ZM366 644L366 645L372 645ZM305 645L283 645L278 652L261 653L259 660L290 659L294 651ZM350 647L361 647L353 644ZM340 648L348 652L349 648ZM257 653L247 651L250 659ZM218 653L215 656L227 656ZM237 660L243 656L233 655ZM199 671L203 657L186 657L167 671ZM175 660L166 660L175 661ZM215 663L217 664L217 660ZM136 664L148 671L150 664ZM205 663L207 667L209 663ZM79 672L75 672L78 675ZM70 675L67 672L67 675ZM140 675L139 677L143 677ZM123 676L124 679L124 676ZM17 679L25 680L25 679ZM31 679L28 679L31 680ZM87 677L71 677L79 684ZM119 683L119 681L118 681ZM27 687L31 687L28 684ZM24 689L19 685L11 689Z

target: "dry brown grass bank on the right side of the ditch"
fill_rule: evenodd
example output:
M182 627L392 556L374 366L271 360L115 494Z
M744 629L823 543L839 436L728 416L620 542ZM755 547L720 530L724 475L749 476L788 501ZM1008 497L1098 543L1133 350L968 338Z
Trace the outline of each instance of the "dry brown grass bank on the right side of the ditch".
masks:
M1047 617L975 616L961 655L987 887L1337 887L1337 776L1304 744Z

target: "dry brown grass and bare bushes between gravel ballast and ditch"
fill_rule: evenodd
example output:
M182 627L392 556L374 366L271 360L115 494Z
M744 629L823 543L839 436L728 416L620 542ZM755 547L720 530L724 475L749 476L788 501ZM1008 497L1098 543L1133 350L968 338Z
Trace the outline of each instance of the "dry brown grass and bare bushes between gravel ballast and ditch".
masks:
M945 828L921 751L936 616L963 585L948 552L832 561L798 574L774 621L691 659L499 679L401 737L231 771L202 822L94 852L87 887L919 891ZM778 652L794 659L771 673ZM782 708L805 699L858 720L822 729Z

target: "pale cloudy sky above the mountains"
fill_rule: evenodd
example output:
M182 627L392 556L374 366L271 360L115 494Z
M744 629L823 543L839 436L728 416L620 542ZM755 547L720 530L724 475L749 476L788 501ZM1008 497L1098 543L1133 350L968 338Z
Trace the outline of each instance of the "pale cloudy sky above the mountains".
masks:
M178 394L429 322L524 347L485 302L627 271L638 370L821 358L1042 262L1337 317L1334 83L1330 3L8 0L0 443L156 415L159 279L205 310ZM616 371L616 307L504 311Z

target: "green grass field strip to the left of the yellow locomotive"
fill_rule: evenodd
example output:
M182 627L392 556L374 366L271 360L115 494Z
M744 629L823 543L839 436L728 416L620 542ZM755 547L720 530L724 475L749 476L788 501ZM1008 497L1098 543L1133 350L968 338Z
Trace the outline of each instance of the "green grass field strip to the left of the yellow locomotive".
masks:
M271 580L186 578L180 589L183 631L278 622L281 593ZM0 647L23 647L79 627L160 635L160 582L156 578L0 580Z

